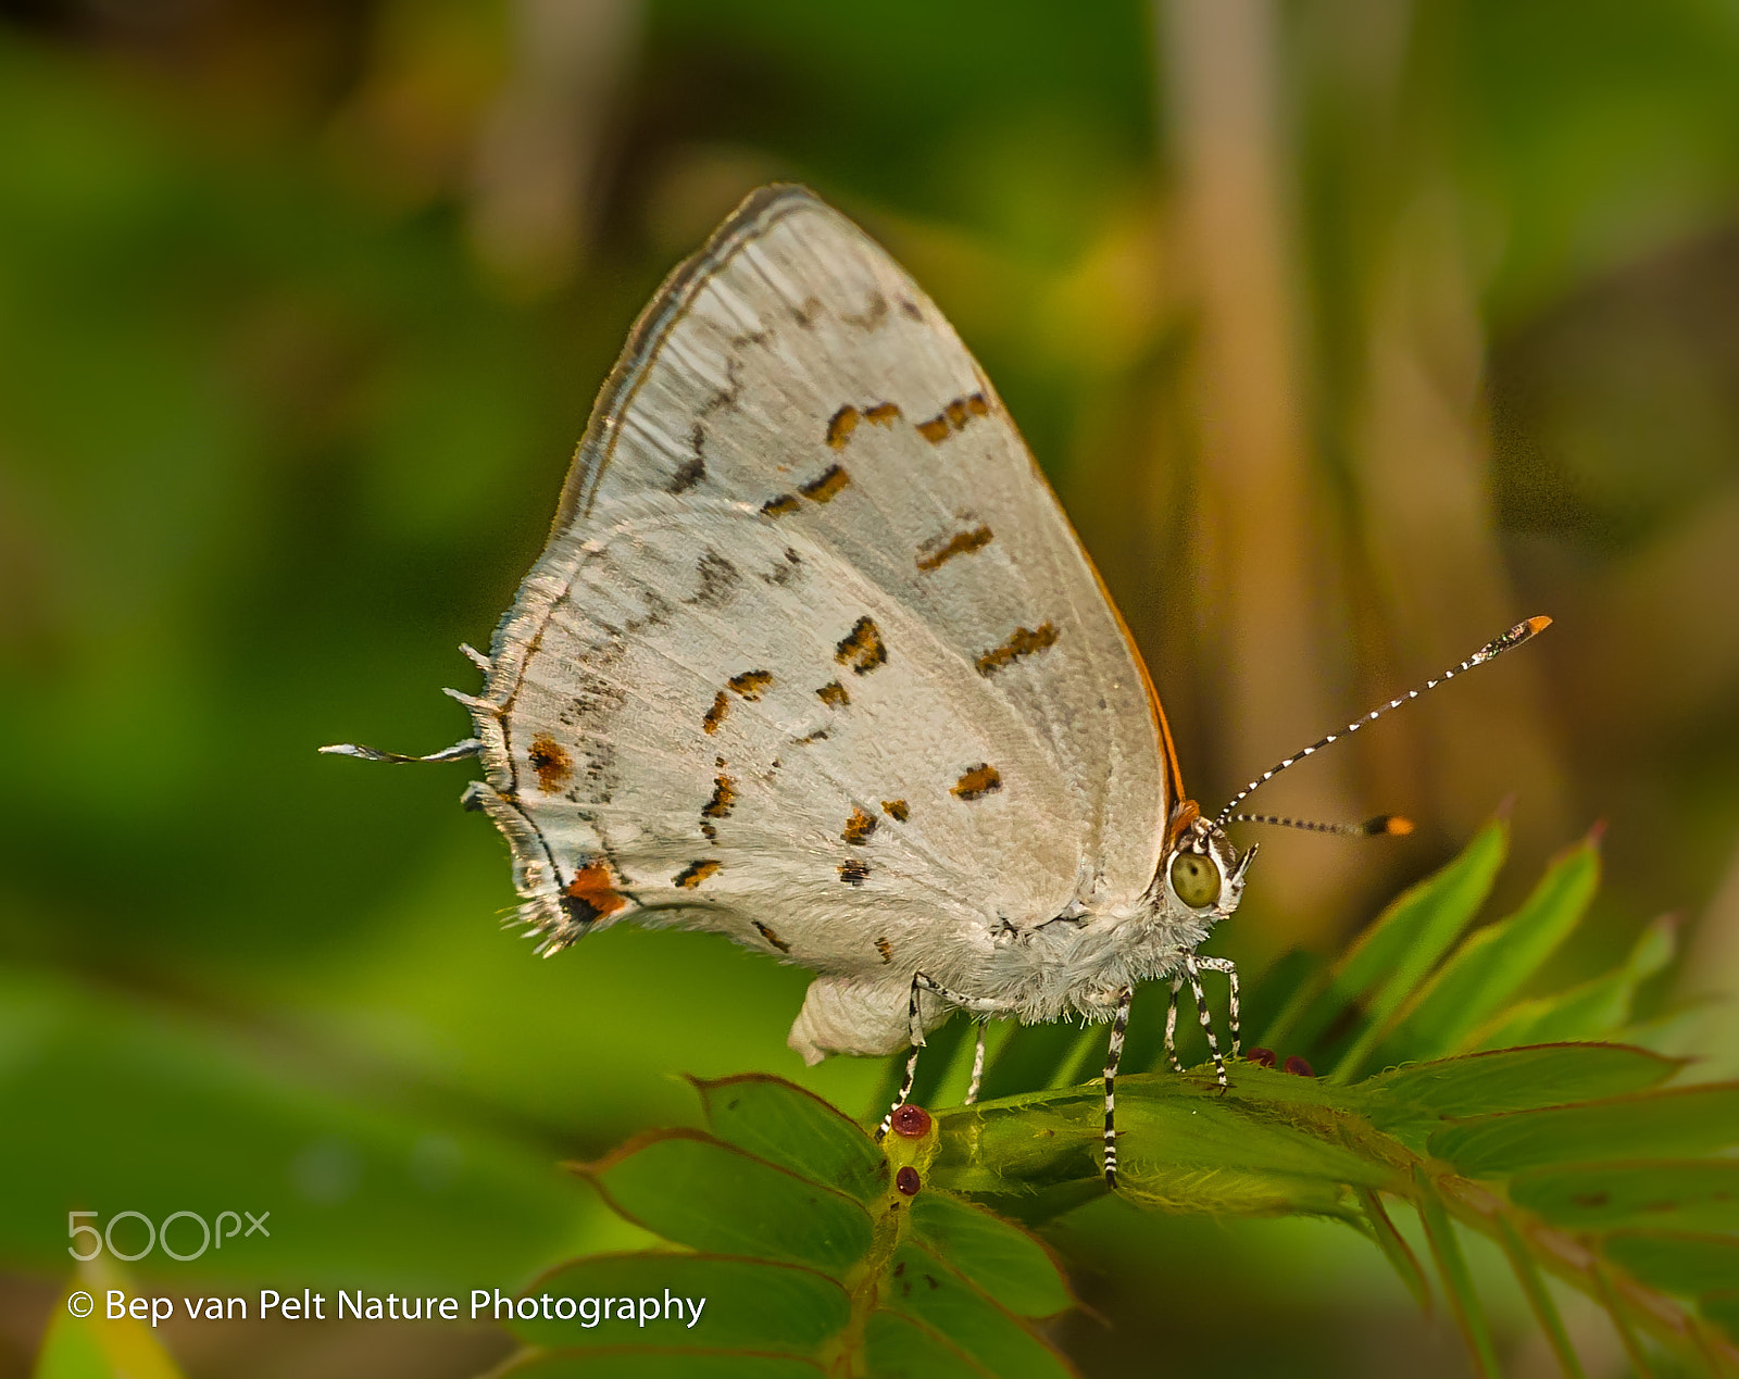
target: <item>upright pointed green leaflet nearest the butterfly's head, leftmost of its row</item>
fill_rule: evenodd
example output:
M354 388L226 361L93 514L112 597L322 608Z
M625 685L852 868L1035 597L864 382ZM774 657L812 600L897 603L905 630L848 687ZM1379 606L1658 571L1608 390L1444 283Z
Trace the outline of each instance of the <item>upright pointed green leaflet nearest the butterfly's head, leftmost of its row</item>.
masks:
M1478 913L1509 850L1504 821L1487 824L1459 857L1403 890L1316 983L1299 988L1263 1033L1271 1049L1311 1049L1348 1007L1369 1000L1386 1017Z

